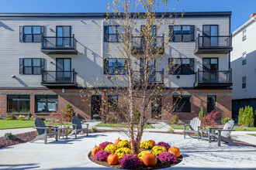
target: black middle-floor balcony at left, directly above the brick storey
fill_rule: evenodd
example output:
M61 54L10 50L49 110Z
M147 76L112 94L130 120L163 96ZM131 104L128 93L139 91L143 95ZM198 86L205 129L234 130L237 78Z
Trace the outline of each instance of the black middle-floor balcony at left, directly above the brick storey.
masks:
M77 87L77 73L73 71L44 71L42 86L46 87Z

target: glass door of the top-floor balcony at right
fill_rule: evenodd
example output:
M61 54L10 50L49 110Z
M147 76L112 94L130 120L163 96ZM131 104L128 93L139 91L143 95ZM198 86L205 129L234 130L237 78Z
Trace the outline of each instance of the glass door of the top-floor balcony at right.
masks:
M218 26L202 26L203 46L218 46Z

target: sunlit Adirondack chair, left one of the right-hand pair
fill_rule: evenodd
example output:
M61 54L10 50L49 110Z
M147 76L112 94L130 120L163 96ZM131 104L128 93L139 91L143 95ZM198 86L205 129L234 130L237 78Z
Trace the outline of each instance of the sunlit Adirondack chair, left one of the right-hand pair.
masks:
M200 126L201 121L199 120L198 117L194 117L191 121L190 124L185 124L184 125L184 138L185 138L185 133L188 133L190 136L190 133L197 134L198 135L198 140L199 140L199 134L200 134ZM185 128L189 126L189 130L186 130ZM190 136L191 137L191 136Z

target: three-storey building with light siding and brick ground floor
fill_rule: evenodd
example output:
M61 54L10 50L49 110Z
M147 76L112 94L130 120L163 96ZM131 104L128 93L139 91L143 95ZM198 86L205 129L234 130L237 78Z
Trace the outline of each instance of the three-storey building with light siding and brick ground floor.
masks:
M178 114L182 120L195 117L200 107L220 111L222 117L231 116L230 16L231 12L186 12L180 26L163 25L157 30L157 41L168 38L166 34L163 37L165 28L173 31L173 39L170 47L161 50L164 57L155 75L168 76L171 59L178 57L174 63L182 63L179 73L162 80L163 101L165 95L171 96L165 104L181 100L185 106ZM71 104L79 117L94 119L100 118L104 98L116 104L113 101L119 97L108 96L111 86L106 76L115 68L104 59L109 58L109 46L119 41L119 32L105 18L103 13L0 14L0 114L30 111L34 117L48 117ZM138 30L143 24L138 20L133 36L140 36ZM105 38L110 36L112 42ZM111 61L117 63L119 53L114 46L109 53L116 55ZM121 69L122 61L119 63ZM101 83L101 78L106 82L102 93L82 101L81 83L85 93L90 93L88 87ZM154 110L161 114L162 108ZM147 118L151 115L148 113ZM161 119L168 120L169 116L167 113Z

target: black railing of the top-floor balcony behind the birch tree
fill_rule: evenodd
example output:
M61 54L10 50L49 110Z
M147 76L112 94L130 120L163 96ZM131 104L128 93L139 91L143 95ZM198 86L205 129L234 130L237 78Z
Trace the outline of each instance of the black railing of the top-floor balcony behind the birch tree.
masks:
M132 36L132 47L137 49L144 49L146 46L146 39L143 36ZM153 48L164 48L164 35L155 36L149 39L148 46Z

